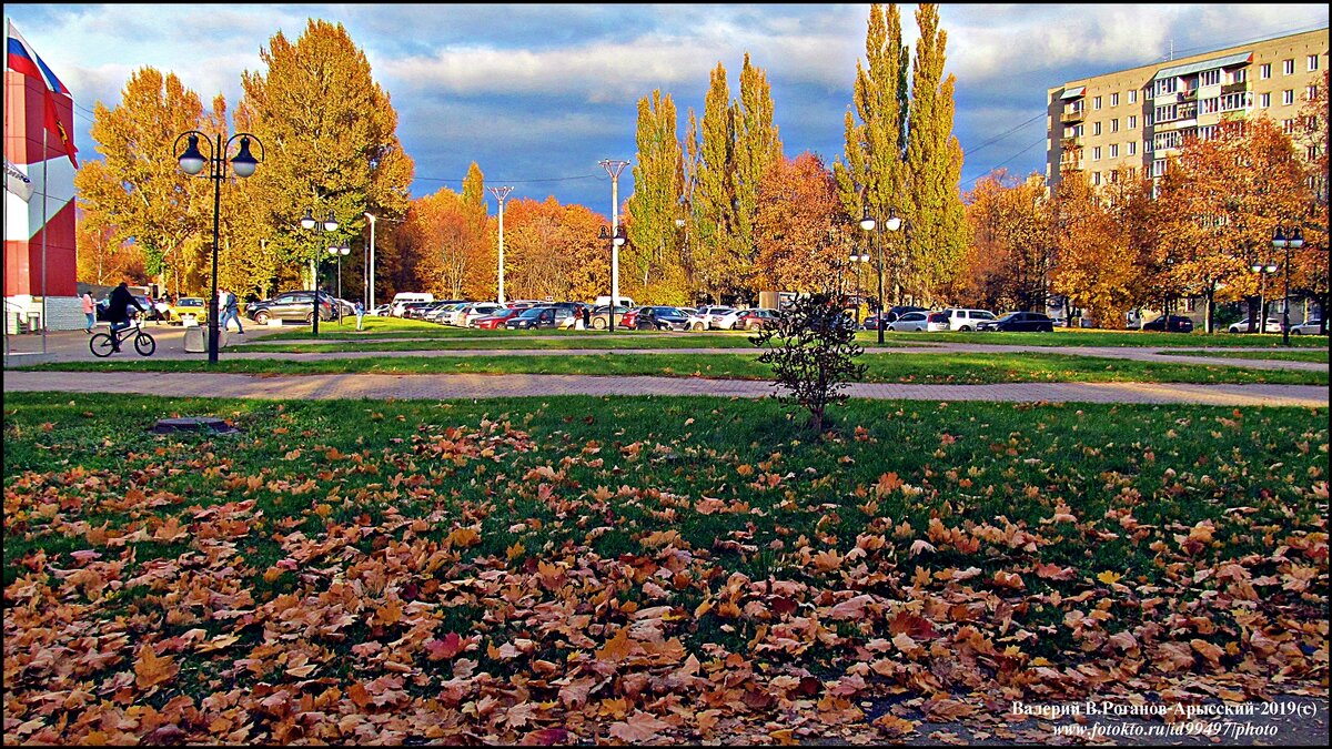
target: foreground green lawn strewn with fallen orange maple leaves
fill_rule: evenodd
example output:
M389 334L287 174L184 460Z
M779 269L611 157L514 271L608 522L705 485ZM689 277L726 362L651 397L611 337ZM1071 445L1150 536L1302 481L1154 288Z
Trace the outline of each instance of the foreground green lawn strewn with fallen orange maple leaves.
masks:
M11 393L7 734L882 741L934 728L876 696L1323 682L1327 409L830 416Z

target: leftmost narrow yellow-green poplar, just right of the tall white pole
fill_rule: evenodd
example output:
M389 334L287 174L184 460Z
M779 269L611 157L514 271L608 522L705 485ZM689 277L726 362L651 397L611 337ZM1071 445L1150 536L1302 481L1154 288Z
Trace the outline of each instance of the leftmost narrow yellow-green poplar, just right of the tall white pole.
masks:
M642 299L683 303L681 263L681 216L685 192L685 164L675 137L675 103L661 89L638 101L638 163L634 165L634 193L629 197L627 259L641 283ZM657 288L653 288L657 287Z

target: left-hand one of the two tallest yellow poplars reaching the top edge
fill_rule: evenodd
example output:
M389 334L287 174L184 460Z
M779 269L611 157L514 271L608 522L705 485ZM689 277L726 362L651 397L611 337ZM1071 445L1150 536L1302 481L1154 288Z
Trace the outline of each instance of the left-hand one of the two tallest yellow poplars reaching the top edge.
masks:
M868 209L882 227L892 212L906 216L910 211L903 204L910 51L902 43L896 4L870 7L864 57L863 65L855 64L854 115L846 112L846 164L834 163L832 175L846 216L855 221ZM886 235L878 237L884 269L896 268L904 244L892 232L879 231Z

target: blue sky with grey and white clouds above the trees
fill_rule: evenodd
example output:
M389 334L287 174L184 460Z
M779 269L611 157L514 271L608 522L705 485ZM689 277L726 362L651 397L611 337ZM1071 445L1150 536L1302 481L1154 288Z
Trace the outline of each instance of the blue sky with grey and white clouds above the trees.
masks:
M416 161L413 195L460 189L472 161L511 197L610 212L602 159L633 161L637 103L671 95L685 133L721 61L738 95L746 52L767 72L789 156L842 153L843 116L868 5L79 5L5 4L7 19L75 95L75 140L95 101L113 107L141 67L174 72L208 101L240 99L244 71L278 31L341 23L398 112ZM902 5L916 39L915 5ZM962 187L996 167L1043 171L1046 89L1259 39L1325 28L1324 4L944 4L947 72L956 75ZM631 167L619 181L633 189Z

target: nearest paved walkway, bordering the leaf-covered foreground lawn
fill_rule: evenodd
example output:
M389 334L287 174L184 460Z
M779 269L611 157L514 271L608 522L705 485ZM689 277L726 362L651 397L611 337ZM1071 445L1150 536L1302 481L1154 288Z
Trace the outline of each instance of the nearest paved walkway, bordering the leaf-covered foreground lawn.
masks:
M757 398L770 382L701 377L578 374L178 374L159 372L5 372L5 392L64 390L237 398L492 398L550 396L718 396ZM923 401L1180 402L1328 406L1319 385L1014 382L998 385L855 384L855 398Z

